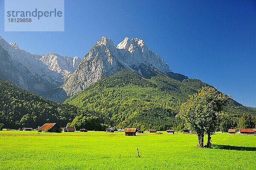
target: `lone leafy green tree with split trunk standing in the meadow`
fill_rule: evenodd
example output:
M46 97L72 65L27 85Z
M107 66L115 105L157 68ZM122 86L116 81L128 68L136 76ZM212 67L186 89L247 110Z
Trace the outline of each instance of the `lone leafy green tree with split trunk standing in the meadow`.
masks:
M208 135L206 147L211 146L210 135L215 132L218 125L218 116L227 102L228 97L224 93L206 86L199 89L198 93L190 95L189 99L181 104L177 116L197 133L200 147L204 146L204 133Z

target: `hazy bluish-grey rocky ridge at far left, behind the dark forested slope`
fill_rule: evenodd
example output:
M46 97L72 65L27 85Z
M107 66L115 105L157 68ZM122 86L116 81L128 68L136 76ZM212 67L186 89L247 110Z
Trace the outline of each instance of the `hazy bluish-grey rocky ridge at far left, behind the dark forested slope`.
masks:
M17 43L7 43L0 37L0 78L23 89L45 96L75 71L81 59L54 53L38 55L20 49Z

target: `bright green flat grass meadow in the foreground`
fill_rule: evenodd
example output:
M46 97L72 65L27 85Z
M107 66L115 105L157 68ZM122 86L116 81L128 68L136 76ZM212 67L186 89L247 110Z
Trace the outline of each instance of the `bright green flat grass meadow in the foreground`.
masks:
M0 170L255 170L256 136L0 131ZM137 148L140 156L137 157Z

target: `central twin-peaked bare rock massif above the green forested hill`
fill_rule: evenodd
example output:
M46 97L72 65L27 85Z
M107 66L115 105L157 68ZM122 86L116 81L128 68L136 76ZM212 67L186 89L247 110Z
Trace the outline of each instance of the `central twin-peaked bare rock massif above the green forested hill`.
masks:
M144 78L155 75L154 69L165 75L172 73L163 58L148 49L143 40L125 37L115 47L110 38L102 37L84 56L76 71L61 88L68 96L72 96L94 82L123 69L130 69Z

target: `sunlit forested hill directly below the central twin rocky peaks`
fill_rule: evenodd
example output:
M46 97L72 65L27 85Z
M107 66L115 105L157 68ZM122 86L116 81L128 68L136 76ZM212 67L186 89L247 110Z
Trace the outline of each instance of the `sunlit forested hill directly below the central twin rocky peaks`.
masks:
M97 81L65 103L94 111L102 123L113 127L179 130L183 124L175 115L180 104L201 87L209 85L184 76L175 78L177 80L158 72L145 79L131 70L123 70ZM244 107L230 99L226 114L231 115L232 120L245 112L256 115L255 108Z

